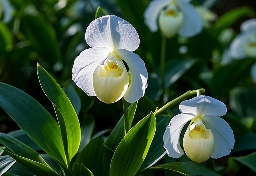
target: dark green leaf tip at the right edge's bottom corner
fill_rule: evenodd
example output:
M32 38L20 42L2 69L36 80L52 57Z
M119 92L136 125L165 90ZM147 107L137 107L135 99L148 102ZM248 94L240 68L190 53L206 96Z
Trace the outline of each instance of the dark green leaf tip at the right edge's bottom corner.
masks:
M256 152L242 157L232 157L232 159L239 161L256 172Z

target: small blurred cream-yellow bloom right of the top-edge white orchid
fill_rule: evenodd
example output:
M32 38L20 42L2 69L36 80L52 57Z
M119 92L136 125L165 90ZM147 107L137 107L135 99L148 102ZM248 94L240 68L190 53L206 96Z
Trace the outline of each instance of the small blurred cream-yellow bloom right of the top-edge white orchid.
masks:
M218 18L215 13L213 13L211 10L204 6L196 6L196 11L201 17L204 28L209 28L211 26L211 22L215 21Z

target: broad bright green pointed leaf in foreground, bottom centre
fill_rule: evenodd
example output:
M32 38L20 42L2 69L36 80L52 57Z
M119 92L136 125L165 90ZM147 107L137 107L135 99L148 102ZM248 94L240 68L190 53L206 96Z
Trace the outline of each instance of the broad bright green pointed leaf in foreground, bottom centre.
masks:
M130 129L117 146L110 164L110 175L135 175L147 155L155 131L156 118L151 112Z

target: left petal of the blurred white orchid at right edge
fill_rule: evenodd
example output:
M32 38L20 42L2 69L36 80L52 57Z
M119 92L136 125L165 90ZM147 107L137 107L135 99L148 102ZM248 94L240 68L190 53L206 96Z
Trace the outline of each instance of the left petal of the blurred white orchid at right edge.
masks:
M246 58L245 43L250 33L241 33L230 44L230 55L234 59Z

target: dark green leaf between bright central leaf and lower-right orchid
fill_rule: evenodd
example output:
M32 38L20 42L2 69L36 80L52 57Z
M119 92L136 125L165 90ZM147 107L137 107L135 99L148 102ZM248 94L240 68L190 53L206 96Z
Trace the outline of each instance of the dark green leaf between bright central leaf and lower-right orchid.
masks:
M140 170L141 172L148 167L156 164L161 158L166 155L166 150L163 148L163 133L171 120L170 115L160 115L156 119L156 133L148 150L147 156L142 163Z

